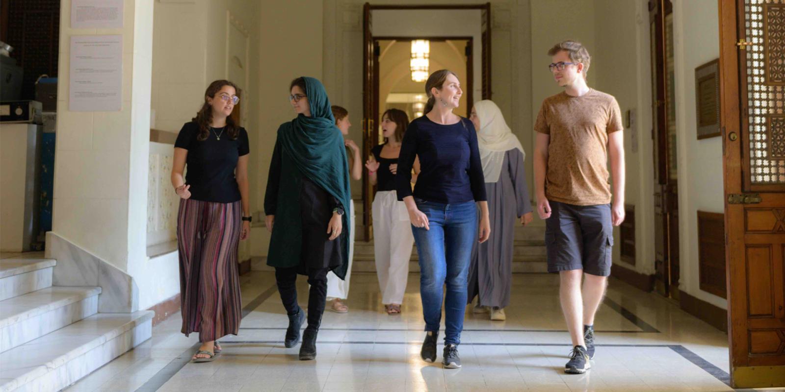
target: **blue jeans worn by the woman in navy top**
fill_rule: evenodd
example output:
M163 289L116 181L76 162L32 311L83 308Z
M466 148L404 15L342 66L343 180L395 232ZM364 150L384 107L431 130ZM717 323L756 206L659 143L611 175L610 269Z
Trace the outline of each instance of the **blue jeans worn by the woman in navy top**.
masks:
M420 296L425 331L438 332L444 284L444 344L461 343L466 311L467 274L477 236L474 201L441 204L415 198L417 208L428 216L430 230L411 227L420 259Z

